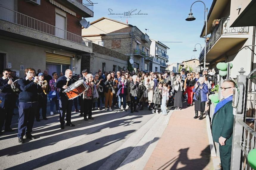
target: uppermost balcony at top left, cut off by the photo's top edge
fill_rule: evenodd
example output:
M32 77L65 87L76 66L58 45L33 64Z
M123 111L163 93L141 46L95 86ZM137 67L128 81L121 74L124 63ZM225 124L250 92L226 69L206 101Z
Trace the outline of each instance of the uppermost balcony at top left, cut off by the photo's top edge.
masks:
M93 2L90 0L54 0L79 13L83 18L93 17ZM54 3L50 0L51 3Z

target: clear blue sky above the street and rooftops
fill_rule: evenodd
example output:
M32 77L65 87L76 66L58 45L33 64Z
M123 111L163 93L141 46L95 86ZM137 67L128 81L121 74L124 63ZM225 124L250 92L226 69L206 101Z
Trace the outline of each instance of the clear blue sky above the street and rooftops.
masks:
M144 33L145 28L149 29L147 32L149 38L167 45L170 48L167 50L167 54L169 55L169 64L171 64L191 59L193 55L198 58L200 45L196 45L196 52L193 51L196 43L200 43L202 49L204 48L204 39L199 37L204 23L204 4L201 2L193 4L192 13L196 20L185 20L194 1L196 0L92 0L93 3L98 3L93 7L94 17L86 19L92 22L101 17L108 17L126 23L127 18L108 15L109 8L113 10L113 13L128 12L132 9L137 9L136 12L141 10L140 13L147 13L148 15L140 15L141 17L128 18L128 23L137 26ZM204 0L204 2L209 10L212 0Z

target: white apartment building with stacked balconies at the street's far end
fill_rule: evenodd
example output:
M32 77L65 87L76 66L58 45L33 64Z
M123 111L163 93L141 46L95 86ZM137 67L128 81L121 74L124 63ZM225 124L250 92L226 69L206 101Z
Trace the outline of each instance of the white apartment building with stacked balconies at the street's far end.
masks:
M168 71L168 58L167 50L170 49L160 41L150 39L152 41L150 45L150 55L153 56L152 71L153 72L165 72Z

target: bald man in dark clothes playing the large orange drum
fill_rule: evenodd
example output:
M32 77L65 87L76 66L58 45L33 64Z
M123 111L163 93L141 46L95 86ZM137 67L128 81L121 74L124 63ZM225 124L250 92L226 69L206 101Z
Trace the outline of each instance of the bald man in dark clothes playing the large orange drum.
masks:
M66 85L67 79L69 79L68 85ZM60 128L61 129L64 129L65 113L67 113L66 114L66 121L67 121L66 125L67 126L75 126L74 124L71 123L71 111L72 111L73 100L68 100L68 98L63 93L63 90L68 88L68 86L70 86L74 82L75 81L72 79L72 70L66 69L65 75L58 78L57 82L54 85L54 87L60 89L60 108L61 108L60 109Z

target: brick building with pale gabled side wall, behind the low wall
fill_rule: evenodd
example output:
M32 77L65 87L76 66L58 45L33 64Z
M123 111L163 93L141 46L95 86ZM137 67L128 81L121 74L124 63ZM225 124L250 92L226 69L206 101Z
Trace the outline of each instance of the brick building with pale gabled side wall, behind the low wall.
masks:
M136 26L102 17L90 23L89 28L82 29L82 37L95 44L114 50L133 59L134 70L150 71L152 56L150 56L151 40ZM112 63L113 69L116 63Z

